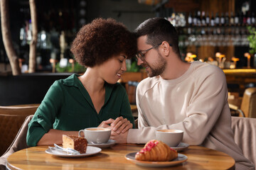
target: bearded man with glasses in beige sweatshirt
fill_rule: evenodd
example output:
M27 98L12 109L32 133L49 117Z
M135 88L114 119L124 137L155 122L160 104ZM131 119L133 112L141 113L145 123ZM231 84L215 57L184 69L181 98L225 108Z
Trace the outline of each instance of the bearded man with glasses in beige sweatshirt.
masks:
M139 129L112 139L146 143L156 138L156 130L183 130L183 142L229 154L236 169L254 169L233 140L223 71L203 62L183 62L176 29L164 18L144 21L135 33L138 64L149 76L137 86Z

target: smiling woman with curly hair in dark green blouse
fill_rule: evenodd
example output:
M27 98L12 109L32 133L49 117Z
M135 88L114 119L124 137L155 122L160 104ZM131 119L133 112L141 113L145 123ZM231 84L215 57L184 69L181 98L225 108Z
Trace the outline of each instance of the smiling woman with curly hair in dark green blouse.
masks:
M117 83L137 52L134 35L122 23L97 18L80 29L70 50L87 70L50 86L28 125L28 146L61 144L63 134L90 127L117 133L134 127L128 96Z

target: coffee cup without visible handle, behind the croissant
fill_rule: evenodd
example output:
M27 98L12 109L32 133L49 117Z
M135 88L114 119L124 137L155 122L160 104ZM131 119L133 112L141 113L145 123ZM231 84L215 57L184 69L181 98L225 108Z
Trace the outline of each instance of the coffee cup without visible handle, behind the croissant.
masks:
M177 147L182 139L182 130L156 130L156 140L161 140L169 147Z

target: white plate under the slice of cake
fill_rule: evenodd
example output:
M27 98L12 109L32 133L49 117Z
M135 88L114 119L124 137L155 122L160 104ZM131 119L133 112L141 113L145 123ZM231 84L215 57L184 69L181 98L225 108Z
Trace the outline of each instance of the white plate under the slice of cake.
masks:
M60 152L58 150L48 148L48 149L46 149L46 153L53 154L58 157L88 157L90 155L97 154L97 153L101 152L101 150L102 149L100 149L99 147L88 147L87 146L85 154L66 154L65 152Z

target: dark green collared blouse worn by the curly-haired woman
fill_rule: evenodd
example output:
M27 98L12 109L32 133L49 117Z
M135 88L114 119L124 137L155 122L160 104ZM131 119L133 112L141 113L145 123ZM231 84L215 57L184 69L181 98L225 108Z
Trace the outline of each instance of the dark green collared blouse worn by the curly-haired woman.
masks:
M28 124L27 145L36 146L50 129L78 131L97 127L103 120L127 118L134 127L129 99L121 84L105 83L105 103L98 114L90 95L73 74L55 81Z

